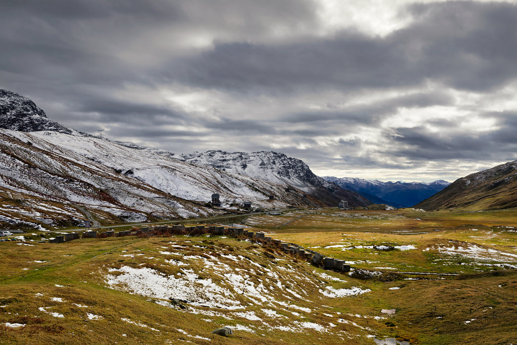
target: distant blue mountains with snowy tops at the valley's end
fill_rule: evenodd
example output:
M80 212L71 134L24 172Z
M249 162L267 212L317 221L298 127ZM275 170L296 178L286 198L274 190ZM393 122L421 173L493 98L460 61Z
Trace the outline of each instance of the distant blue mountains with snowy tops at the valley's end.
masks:
M450 183L437 180L425 182L382 182L355 177L323 177L343 189L357 191L363 197L376 204L387 204L393 207L412 207L447 187Z

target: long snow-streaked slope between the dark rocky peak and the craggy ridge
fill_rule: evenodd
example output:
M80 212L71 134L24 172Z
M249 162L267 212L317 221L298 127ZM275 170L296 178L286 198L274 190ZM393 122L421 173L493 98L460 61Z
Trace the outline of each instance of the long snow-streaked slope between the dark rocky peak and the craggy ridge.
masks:
M0 129L0 139L0 187L87 205L122 219L221 213L203 206L214 192L220 194L223 206L244 200L266 208L317 205L301 191L286 190L283 185L195 166L102 138ZM269 200L270 195L275 200Z

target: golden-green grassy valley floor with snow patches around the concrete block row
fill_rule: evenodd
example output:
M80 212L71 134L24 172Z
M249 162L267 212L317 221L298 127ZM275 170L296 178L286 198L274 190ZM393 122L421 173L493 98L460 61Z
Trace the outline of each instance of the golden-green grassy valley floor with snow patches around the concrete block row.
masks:
M2 242L0 341L517 343L515 209L302 209L238 221L352 272L226 236ZM211 334L224 325L232 336Z

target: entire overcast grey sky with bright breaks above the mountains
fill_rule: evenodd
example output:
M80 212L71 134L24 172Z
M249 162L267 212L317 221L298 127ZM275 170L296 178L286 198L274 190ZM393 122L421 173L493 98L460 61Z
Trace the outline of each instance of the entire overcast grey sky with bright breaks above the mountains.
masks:
M454 179L517 159L517 2L17 0L0 88L174 153Z

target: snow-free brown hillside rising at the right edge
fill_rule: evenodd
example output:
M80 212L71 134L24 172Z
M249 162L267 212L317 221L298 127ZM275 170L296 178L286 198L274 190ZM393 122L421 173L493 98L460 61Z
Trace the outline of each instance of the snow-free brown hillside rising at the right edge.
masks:
M454 181L415 207L427 211L462 208L472 211L517 207L517 161L501 164Z

